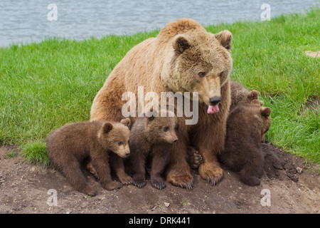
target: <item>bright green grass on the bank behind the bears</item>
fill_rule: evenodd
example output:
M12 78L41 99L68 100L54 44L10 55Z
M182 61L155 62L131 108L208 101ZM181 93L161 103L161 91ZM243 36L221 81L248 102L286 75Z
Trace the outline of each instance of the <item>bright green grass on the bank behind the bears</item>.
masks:
M231 79L260 91L272 108L267 139L320 162L320 9L271 21L206 27L233 33ZM130 48L159 30L85 41L48 38L0 48L0 144L18 144L27 160L48 165L44 139L70 122L88 120L92 100ZM311 108L311 103L317 103Z

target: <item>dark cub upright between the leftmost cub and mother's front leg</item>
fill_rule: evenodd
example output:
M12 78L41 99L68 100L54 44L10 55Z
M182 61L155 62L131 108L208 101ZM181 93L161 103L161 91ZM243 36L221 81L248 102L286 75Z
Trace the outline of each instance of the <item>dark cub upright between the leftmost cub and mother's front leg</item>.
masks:
M160 113L160 112L159 112ZM130 133L130 160L133 183L137 187L146 185L146 161L151 156L151 185L159 190L166 187L162 177L169 162L170 147L178 140L176 128L178 120L174 113L166 117L152 115L135 120ZM150 115L149 115L150 116ZM169 117L174 116L174 117Z

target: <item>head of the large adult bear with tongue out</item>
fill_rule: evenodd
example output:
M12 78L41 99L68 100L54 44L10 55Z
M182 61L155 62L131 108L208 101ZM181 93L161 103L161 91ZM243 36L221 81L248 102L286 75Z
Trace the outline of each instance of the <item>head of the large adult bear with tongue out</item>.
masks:
M229 31L218 34L179 34L174 38L171 87L181 92L198 92L199 101L217 105L220 88L228 81L232 70Z

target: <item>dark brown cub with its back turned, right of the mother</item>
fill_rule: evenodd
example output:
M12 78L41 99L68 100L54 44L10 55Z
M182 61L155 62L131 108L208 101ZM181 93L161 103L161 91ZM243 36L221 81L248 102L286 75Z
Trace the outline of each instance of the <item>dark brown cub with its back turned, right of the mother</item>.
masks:
M271 109L257 104L238 104L227 120L225 149L219 155L223 164L239 173L246 185L260 185L265 155L261 141L271 125Z

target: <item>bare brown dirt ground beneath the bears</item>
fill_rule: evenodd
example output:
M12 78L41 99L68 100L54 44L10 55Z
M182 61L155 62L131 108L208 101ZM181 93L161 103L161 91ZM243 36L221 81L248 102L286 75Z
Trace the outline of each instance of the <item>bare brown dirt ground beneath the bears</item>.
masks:
M90 185L98 191L95 197L73 190L65 177L53 168L25 162L18 155L17 146L2 146L0 213L320 214L319 165L312 167L301 157L290 155L272 143L262 146L267 153L267 163L257 187L242 184L230 170L225 170L223 180L212 186L201 179L197 170L192 170L193 190L170 184L164 190L156 190L148 181L142 189L127 185L117 191L107 191L88 173ZM17 155L6 158L12 151Z

